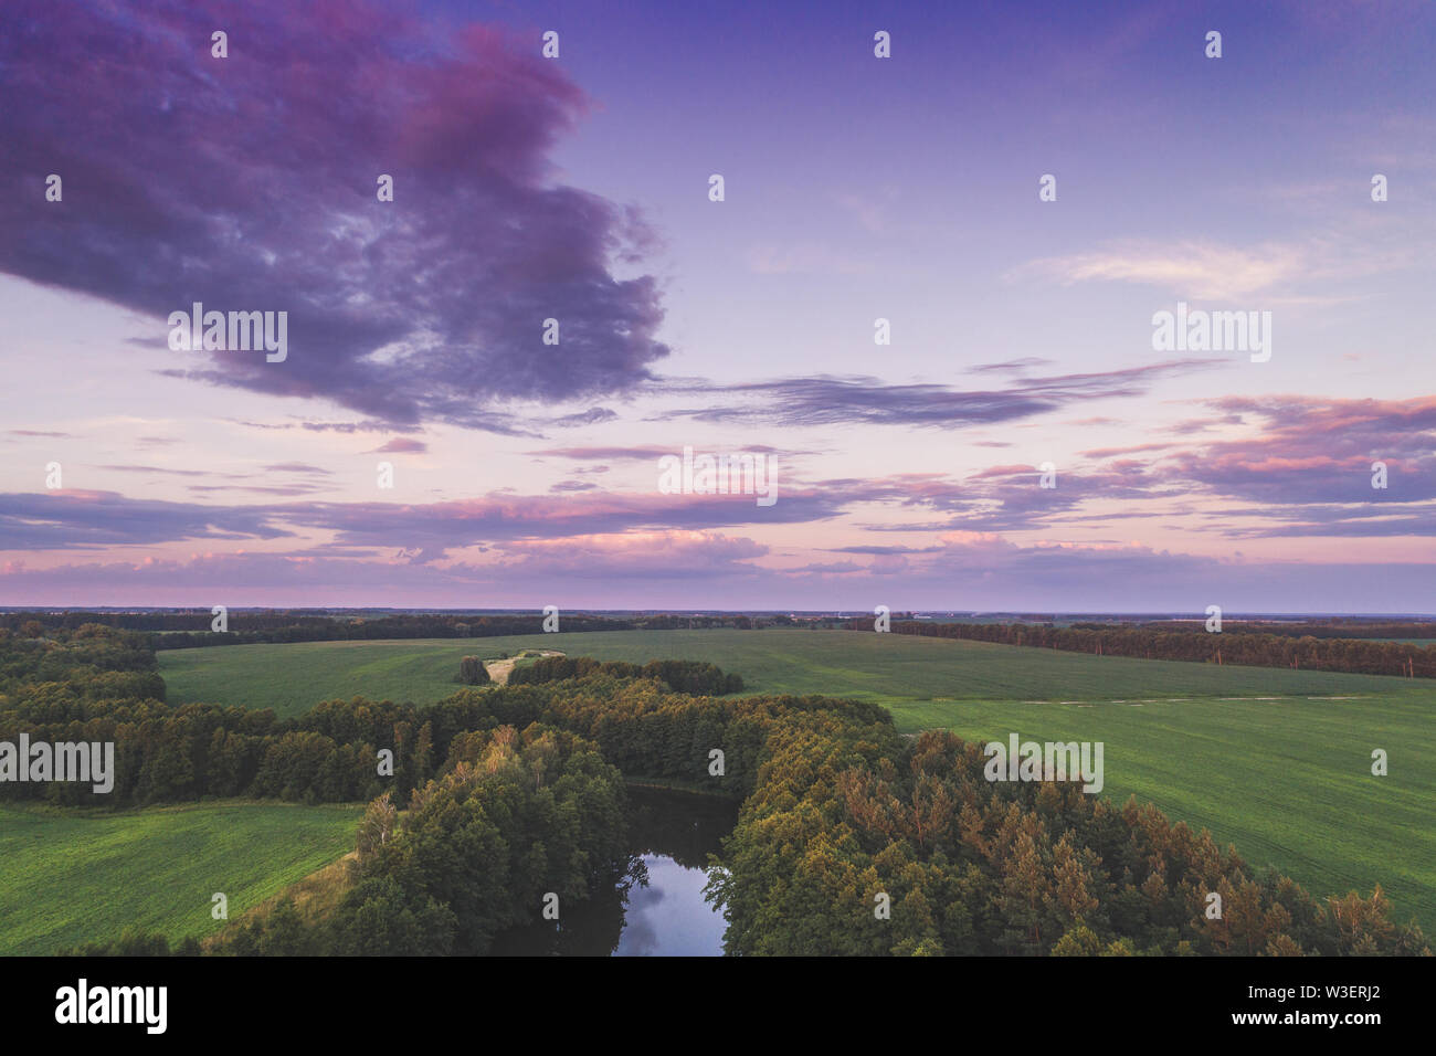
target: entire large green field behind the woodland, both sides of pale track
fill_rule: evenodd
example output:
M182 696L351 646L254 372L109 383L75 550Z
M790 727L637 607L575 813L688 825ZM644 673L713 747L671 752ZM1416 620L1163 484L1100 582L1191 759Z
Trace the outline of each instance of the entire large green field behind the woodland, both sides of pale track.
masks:
M1314 894L1369 894L1436 932L1436 684L1213 667L850 631L630 631L482 639L238 645L161 652L169 700L297 714L332 697L429 703L467 654L556 648L600 659L691 658L751 693L889 707L903 731L1100 740L1103 795L1155 802ZM1384 749L1390 773L1373 777Z

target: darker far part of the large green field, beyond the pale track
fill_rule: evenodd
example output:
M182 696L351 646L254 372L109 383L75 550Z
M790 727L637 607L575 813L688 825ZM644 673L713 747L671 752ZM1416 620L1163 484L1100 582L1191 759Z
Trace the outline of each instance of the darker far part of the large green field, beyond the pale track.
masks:
M462 688L455 681L462 657L511 657L526 648L639 664L707 659L737 671L751 693L820 693L880 704L939 698L1387 695L1422 685L1380 675L1099 658L912 635L783 628L225 645L158 655L171 704L240 704L297 715L336 697L431 704Z

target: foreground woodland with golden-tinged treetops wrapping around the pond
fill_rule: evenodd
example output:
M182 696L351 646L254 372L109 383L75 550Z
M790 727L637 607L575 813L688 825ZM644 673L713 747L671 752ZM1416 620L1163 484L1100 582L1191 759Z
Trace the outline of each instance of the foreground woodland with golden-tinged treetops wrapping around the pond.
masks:
M363 736L373 707L326 705L325 728ZM415 718L444 761L406 812L395 792L370 803L337 905L316 918L281 901L215 953L480 954L540 921L549 892L561 920L630 875L620 772L745 797L709 882L729 954L1429 953L1380 889L1317 899L1150 805L1077 780L989 782L979 744L902 737L876 704L689 697L595 668L461 691ZM80 953L168 948L131 932Z

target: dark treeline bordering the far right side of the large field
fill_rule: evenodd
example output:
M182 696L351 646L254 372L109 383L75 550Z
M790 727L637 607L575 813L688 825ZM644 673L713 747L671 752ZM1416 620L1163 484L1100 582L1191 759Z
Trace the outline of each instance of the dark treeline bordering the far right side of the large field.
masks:
M854 619L846 626L849 631L873 632L872 619ZM1228 624L1221 634L1208 634L1202 624L1175 628L1172 625L1081 624L1053 626L1050 624L900 621L892 625L892 631L893 634L925 635L928 638L961 638L1001 645L1032 645L1067 652L1091 652L1103 657L1436 678L1436 648L1357 638L1292 638L1282 634L1246 634L1229 629L1232 626Z

